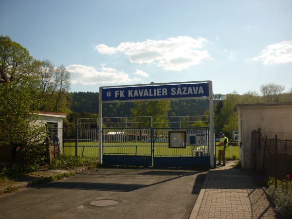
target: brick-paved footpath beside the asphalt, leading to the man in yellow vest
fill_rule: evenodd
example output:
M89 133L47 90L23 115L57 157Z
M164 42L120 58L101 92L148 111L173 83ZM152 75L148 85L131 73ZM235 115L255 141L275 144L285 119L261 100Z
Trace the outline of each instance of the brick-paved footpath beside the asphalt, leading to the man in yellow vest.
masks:
M251 173L234 164L208 171L189 219L281 219Z

